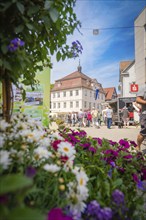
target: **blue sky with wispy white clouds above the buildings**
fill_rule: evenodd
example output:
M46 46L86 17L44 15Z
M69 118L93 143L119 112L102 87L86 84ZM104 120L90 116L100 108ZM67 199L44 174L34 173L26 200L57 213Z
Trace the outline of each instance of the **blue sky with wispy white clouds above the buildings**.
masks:
M134 60L134 20L145 6L146 0L77 0L74 10L82 35L75 31L68 43L79 40L83 53L63 62L53 56L51 83L75 72L80 59L82 73L96 78L103 88L117 89L119 63ZM93 29L99 29L99 34L93 35Z

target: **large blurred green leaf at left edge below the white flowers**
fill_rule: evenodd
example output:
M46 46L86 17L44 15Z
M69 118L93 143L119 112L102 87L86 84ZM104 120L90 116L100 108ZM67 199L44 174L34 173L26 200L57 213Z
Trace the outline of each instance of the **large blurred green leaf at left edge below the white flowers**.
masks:
M14 192L32 185L32 180L21 174L9 174L0 179L0 194Z

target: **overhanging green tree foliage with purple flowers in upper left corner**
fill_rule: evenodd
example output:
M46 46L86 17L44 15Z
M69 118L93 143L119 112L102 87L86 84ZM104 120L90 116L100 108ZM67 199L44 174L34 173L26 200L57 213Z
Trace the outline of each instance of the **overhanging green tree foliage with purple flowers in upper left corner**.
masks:
M35 74L56 59L76 57L81 45L66 44L67 35L80 27L73 11L75 0L0 1L0 80L18 85L37 83Z

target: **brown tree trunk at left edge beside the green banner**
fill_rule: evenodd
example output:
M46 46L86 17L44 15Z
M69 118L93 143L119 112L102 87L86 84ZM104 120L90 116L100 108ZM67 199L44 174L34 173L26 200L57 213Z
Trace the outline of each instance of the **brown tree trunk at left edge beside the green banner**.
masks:
M3 118L9 122L11 118L12 106L12 85L8 77L2 81L2 102L3 102Z

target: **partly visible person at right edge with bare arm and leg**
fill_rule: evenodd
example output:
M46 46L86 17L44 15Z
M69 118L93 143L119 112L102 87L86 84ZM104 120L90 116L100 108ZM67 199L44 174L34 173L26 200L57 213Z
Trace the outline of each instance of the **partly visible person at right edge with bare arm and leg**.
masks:
M141 144L146 138L146 85L142 86L137 93L136 102L141 105L140 111L140 126L141 130L137 136L137 147L136 150L140 150Z

